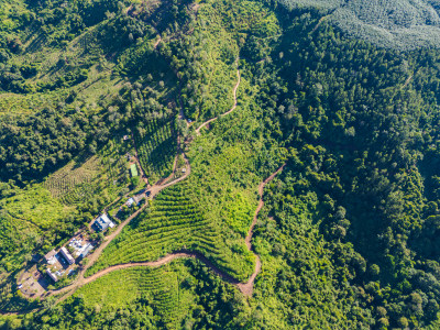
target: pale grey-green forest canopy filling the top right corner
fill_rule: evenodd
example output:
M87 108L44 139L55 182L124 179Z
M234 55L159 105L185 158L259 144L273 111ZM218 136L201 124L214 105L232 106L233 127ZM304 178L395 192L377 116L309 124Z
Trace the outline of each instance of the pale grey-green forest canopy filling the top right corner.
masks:
M440 3L437 0L278 0L288 9L318 9L350 37L381 47L438 47Z

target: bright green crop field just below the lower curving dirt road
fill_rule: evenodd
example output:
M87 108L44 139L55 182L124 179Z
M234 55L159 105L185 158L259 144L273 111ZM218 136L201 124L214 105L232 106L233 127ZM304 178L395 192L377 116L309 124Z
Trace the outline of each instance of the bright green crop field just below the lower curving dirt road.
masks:
M180 272L185 271L180 264L182 261L158 268L133 267L116 271L81 287L76 295L84 296L88 306L99 305L106 308L121 308L135 299L147 297L155 314L161 316L164 328L175 329L191 300L189 293L179 285L183 276L176 272L176 267Z

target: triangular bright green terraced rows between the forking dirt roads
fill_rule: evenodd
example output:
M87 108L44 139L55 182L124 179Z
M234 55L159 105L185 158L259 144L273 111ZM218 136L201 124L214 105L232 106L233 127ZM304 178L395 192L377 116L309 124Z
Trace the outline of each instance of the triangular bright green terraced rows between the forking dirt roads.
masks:
M151 208L105 249L87 275L112 265L155 261L172 252L190 250L201 252L238 279L246 279L250 270L224 246L220 228L204 217L193 198L194 191L186 182L161 193Z

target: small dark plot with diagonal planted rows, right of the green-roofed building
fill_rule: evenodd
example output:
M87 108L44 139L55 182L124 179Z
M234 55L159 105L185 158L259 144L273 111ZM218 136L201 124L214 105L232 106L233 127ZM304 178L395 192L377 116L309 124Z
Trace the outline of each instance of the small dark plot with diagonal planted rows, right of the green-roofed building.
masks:
M135 134L142 168L151 183L166 177L173 170L177 142L172 120L153 119L144 127L145 133Z

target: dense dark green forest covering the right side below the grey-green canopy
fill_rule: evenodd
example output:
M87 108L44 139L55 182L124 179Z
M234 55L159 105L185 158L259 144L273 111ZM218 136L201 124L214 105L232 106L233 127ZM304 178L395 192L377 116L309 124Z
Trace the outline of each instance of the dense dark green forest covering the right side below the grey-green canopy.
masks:
M342 328L437 324L438 260L422 256L419 245L421 240L430 246L426 251L436 245L430 234L424 235L437 215L432 148L438 133L431 128L437 127L438 106L421 86L439 77L431 68L428 78L425 67L437 52L380 50L344 38L329 24L316 29L318 20L304 14L292 24L286 16L289 28L268 69L279 72L260 78L271 81L276 102L262 100L266 111L278 113L275 124L292 147L292 174L271 185L274 218L261 223L256 238L267 254L263 267L278 270L265 273L265 279L285 287L279 301L292 299L286 326L326 327L312 316L321 308ZM300 229L304 223L307 231ZM322 252L300 256L292 244L299 249L304 240L321 244ZM317 265L321 278L311 271ZM266 300L270 287L263 280L260 285ZM312 310L297 302L314 294ZM346 302L332 302L338 296ZM356 308L345 310L351 300Z

